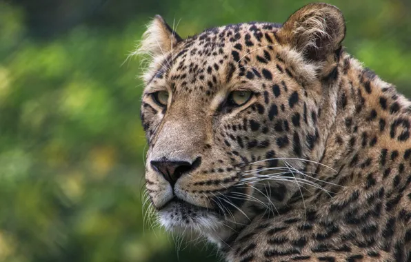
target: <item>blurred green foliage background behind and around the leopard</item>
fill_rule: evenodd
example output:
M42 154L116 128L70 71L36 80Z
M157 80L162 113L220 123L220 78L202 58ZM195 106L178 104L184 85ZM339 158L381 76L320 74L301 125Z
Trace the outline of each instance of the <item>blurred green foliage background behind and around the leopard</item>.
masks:
M410 97L411 1L329 2L348 51ZM143 227L141 63L127 56L154 14L186 37L305 3L0 0L0 261L217 261Z

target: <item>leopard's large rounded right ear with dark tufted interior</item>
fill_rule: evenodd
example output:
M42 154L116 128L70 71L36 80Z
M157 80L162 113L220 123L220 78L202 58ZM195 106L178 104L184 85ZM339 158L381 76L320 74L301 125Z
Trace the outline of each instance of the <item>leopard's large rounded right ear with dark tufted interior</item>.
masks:
M341 50L344 17L337 7L328 3L310 3L288 18L278 36L306 59L324 61Z

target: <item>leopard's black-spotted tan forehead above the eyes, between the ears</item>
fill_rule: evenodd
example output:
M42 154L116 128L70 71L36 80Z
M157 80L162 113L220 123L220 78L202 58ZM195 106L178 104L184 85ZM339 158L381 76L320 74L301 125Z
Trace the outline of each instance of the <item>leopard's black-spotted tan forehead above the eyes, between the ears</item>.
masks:
M168 85L173 92L206 92L210 95L221 84L239 77L261 76L248 54L261 51L254 58L267 64L268 50L277 43L277 23L239 23L210 28L181 41L166 55L150 84ZM266 50L265 50L266 49Z

